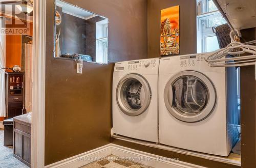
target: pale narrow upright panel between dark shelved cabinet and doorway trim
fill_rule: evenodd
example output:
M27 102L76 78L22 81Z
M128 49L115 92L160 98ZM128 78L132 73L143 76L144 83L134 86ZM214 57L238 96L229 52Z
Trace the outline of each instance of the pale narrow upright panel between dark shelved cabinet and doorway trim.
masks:
M25 57L25 108L27 113L29 113L32 109L32 44L26 44Z

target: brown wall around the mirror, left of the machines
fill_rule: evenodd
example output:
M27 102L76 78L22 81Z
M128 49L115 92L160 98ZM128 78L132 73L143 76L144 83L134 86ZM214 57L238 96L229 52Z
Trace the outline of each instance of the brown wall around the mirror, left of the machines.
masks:
M147 58L146 0L67 2L109 18L109 60ZM53 58L53 0L47 1L45 164L110 143L114 64Z

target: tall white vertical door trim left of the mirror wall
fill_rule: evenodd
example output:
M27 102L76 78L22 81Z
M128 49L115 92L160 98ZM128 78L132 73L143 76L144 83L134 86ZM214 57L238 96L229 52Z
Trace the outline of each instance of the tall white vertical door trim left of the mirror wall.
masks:
M31 167L45 166L46 1L35 0L33 10L33 88Z

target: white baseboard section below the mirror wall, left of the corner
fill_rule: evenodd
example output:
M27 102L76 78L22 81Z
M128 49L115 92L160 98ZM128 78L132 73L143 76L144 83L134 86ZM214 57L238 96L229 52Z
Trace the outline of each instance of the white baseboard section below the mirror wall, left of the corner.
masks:
M70 168L70 167L81 167L83 165L89 164L97 159L106 157L108 155L111 155L111 144L93 149L88 152L81 153L79 155L60 160L56 163L49 164L45 166L46 168L55 168L55 167L61 167L61 168Z

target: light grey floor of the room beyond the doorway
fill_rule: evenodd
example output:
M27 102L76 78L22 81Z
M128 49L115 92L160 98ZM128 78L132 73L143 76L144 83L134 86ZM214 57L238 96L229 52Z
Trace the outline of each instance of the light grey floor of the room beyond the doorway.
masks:
M25 164L12 156L12 148L4 146L4 130L0 130L0 168L27 168Z

